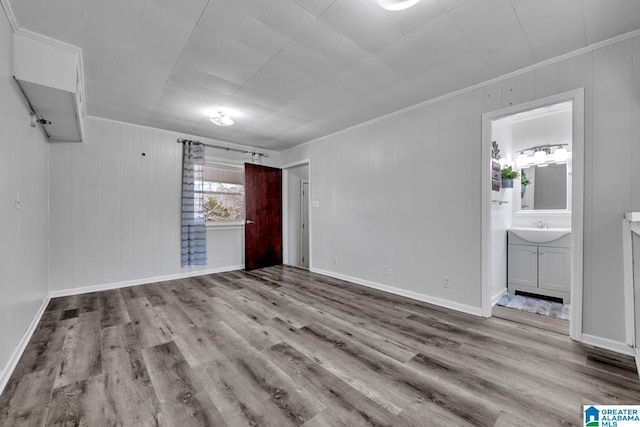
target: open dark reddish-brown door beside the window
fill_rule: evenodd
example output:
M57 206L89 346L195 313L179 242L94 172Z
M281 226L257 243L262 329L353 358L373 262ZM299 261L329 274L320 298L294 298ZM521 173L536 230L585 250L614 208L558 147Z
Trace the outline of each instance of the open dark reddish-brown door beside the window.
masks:
M244 190L245 268L282 264L282 170L245 164Z

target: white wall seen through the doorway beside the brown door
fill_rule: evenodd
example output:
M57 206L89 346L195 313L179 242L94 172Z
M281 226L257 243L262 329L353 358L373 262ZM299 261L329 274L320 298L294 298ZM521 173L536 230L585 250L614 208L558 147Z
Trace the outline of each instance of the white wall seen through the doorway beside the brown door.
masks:
M302 203L300 185L309 180L309 166L298 166L287 170L287 260L285 262L296 267L302 266L302 230L300 217Z

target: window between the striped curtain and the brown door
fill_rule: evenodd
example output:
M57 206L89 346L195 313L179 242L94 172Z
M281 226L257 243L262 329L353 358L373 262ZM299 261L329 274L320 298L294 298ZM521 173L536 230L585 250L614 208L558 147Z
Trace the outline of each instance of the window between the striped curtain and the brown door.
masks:
M204 167L204 216L207 222L242 221L244 171L237 167Z

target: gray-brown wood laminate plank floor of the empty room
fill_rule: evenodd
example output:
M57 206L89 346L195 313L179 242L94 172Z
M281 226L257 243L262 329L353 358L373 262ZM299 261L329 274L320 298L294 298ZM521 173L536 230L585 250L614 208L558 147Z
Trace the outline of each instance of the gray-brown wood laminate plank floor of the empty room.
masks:
M0 425L581 425L631 358L290 267L51 301Z

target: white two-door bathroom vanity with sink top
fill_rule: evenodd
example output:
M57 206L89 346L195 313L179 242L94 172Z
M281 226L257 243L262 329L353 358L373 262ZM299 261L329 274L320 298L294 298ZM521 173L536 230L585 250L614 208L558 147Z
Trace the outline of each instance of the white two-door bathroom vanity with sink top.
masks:
M571 302L571 231L514 228L507 231L507 288Z

